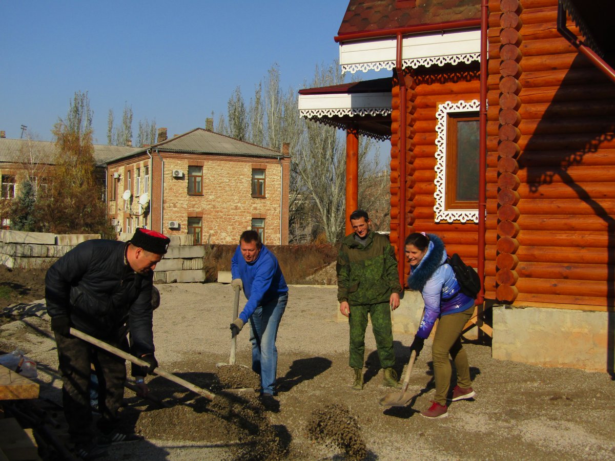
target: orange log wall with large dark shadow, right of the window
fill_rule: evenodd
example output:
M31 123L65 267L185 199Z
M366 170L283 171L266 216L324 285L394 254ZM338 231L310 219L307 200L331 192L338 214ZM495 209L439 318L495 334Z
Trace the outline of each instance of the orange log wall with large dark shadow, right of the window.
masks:
M489 9L486 298L610 310L615 85L558 33L557 0Z

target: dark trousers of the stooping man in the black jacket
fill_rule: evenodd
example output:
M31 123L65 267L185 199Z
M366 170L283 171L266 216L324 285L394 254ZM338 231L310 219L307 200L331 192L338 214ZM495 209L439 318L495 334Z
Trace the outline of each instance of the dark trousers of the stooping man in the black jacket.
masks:
M55 341L62 374L62 403L71 440L74 443L88 443L93 439L90 408L92 364L98 377L98 408L101 414L98 428L105 433L115 430L119 425L119 409L124 399L126 361L74 336L56 333ZM120 342L105 342L128 350L125 337Z

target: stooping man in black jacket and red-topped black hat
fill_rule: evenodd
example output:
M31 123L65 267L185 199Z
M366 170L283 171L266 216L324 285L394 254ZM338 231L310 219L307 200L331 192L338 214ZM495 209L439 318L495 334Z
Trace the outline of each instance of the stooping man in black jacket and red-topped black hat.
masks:
M84 459L104 454L101 445L140 437L118 430L125 360L72 336L70 328L127 350L123 327L129 323L132 355L149 363L143 376L151 373L158 365L152 332L153 270L167 253L169 241L148 229L137 229L128 243L88 240L47 271L45 297L58 345L64 412L76 452ZM97 370L100 385L101 438L93 436L91 427L90 363Z

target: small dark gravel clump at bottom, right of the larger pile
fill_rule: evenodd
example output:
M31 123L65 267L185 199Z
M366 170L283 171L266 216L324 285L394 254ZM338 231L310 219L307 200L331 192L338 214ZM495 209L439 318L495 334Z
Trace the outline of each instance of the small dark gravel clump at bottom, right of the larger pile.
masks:
M348 460L360 461L367 456L359 422L347 406L333 403L315 409L307 430L312 440L343 449Z

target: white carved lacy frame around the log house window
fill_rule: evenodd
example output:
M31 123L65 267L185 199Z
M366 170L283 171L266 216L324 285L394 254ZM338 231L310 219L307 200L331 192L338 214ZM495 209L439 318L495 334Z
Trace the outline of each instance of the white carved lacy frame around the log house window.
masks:
M466 101L458 101L453 103L446 101L443 104L438 104L438 111L435 113L437 119L437 125L435 131L437 137L435 139L436 152L435 152L435 221L442 222L447 221L453 223L453 221L461 221L466 223L467 221L473 221L478 223L478 208L467 209L454 209L446 210L446 132L448 114L453 112L476 112L480 109L480 102L478 100L472 100L466 103Z

